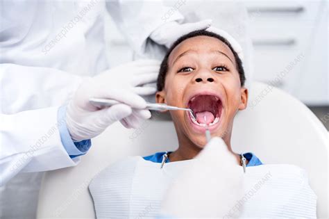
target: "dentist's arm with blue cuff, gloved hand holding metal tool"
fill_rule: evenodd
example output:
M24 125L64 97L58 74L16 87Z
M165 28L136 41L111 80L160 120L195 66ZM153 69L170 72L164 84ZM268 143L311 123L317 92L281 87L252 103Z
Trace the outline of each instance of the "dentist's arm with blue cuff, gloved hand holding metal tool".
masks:
M146 103L139 95L155 92L155 88L143 85L155 80L159 64L140 60L86 78L68 106L0 114L0 185L18 172L76 165L77 156L90 148L89 139L113 122L120 120L129 128L149 118L151 113L143 109ZM90 104L90 97L116 99L123 104L100 109Z

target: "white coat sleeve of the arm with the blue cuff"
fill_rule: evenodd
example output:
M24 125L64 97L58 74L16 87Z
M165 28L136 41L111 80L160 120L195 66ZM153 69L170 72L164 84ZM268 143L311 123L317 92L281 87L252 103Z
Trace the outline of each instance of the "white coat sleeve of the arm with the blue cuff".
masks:
M18 172L40 172L74 166L62 145L58 108L0 115L0 186Z

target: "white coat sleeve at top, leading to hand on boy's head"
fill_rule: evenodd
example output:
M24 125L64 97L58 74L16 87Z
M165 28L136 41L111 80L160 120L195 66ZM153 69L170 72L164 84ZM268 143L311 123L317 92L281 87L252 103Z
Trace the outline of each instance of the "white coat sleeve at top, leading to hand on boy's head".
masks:
M155 29L184 18L177 8L164 6L162 1L107 1L106 8L137 55L145 53L146 40Z

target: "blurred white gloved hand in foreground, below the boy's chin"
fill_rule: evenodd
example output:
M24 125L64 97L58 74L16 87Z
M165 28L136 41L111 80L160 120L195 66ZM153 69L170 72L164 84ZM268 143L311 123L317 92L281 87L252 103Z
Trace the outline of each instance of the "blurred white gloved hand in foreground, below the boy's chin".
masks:
M243 197L243 169L221 138L210 140L169 187L160 214L175 218L237 217Z

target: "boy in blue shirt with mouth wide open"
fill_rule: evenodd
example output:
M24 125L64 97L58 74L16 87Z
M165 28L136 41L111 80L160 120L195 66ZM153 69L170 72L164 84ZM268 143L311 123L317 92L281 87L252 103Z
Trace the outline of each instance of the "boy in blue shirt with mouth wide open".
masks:
M194 31L179 38L162 61L155 98L158 103L191 108L196 119L184 111L171 111L178 149L144 159L160 163L165 156L167 163L194 158L206 143L208 126L212 136L223 138L241 163L230 138L235 114L247 106L245 80L242 61L225 38L209 31ZM252 153L243 156L246 166L262 164Z

